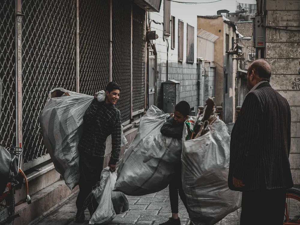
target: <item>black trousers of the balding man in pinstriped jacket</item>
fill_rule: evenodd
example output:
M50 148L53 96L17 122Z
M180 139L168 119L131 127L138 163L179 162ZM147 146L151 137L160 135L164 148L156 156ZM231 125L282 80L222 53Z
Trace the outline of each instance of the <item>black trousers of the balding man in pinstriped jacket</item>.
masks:
M240 225L282 225L285 201L285 189L244 191Z

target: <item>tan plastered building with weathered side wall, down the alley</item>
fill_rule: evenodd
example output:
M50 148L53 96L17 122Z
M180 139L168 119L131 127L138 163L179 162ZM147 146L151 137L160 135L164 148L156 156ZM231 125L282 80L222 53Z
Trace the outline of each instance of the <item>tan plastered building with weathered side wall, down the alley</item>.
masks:
M198 16L197 29L203 29L219 38L214 42L214 66L216 68L214 97L217 107L223 107L223 121L235 120L235 78L237 71L236 26L223 15Z

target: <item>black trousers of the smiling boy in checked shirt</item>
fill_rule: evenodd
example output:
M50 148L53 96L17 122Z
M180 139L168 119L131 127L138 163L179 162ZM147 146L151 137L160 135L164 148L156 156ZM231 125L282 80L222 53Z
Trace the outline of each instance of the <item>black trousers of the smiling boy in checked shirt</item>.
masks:
M80 154L80 178L79 193L76 199L76 217L83 217L86 208L88 208L88 211L91 215L97 209L98 203L94 196L91 195L91 191L93 190L93 187L100 181L103 163L103 157L91 156L84 152Z

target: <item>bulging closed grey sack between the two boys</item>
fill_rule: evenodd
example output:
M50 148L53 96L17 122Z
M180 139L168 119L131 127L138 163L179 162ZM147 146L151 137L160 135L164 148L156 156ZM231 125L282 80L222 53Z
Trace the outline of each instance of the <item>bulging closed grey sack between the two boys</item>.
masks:
M118 168L115 190L142 196L163 190L180 163L181 140L165 137L160 130L170 118L151 106L140 120L133 142L125 151Z

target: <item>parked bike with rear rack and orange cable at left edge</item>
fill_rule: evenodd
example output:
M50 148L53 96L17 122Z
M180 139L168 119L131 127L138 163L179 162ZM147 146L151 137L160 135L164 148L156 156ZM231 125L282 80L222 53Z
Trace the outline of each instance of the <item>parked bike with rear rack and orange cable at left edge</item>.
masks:
M25 202L31 204L31 199L26 175L20 168L23 149L16 147L5 149L3 146L0 146L0 151L0 157L2 159L1 169L3 170L0 173L1 184L6 184L4 192L0 193L0 225L11 225L13 224L13 220L20 216L19 213L15 214L15 207ZM7 173L4 173L4 170L6 170ZM19 177L19 174L22 176ZM15 191L22 187L23 180L25 180L27 196L20 202L15 203Z

